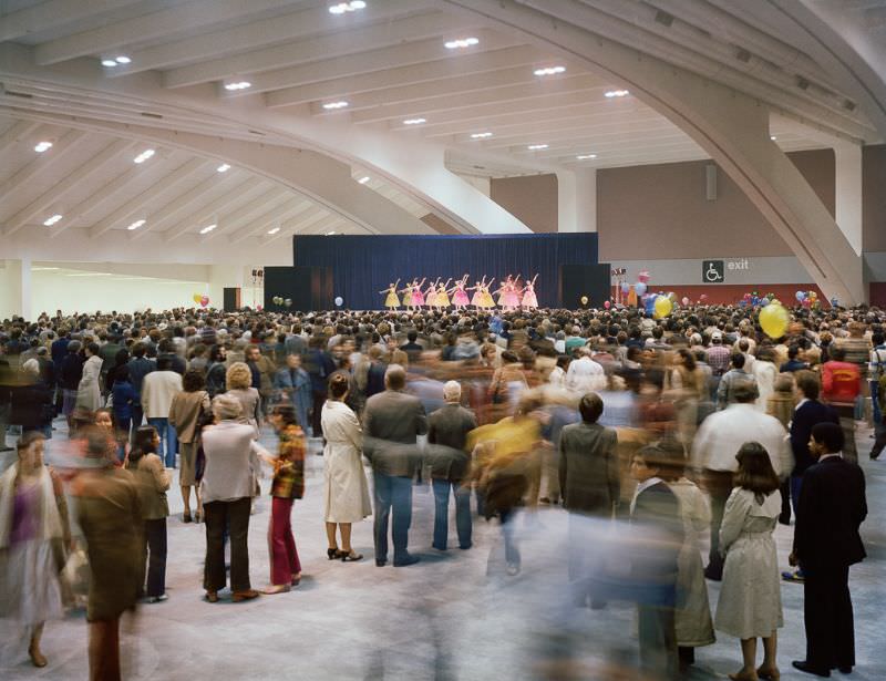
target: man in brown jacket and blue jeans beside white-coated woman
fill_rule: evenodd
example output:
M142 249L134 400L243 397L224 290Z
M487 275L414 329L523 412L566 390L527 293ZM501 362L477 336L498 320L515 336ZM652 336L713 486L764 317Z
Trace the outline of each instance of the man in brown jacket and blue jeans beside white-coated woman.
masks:
M391 535L394 567L419 561L406 550L412 523L412 481L421 468L416 436L427 432L421 401L403 392L406 372L391 364L384 373L384 392L367 400L363 412L363 453L372 462L375 497L375 565L388 563L388 518L393 508Z

